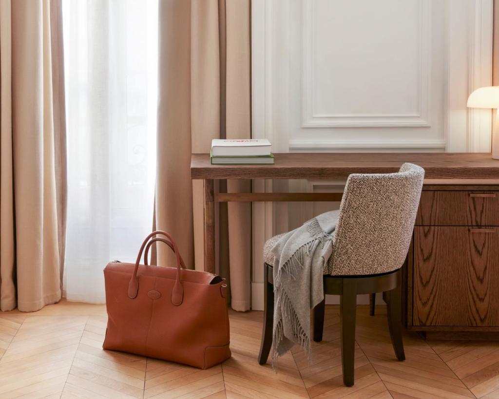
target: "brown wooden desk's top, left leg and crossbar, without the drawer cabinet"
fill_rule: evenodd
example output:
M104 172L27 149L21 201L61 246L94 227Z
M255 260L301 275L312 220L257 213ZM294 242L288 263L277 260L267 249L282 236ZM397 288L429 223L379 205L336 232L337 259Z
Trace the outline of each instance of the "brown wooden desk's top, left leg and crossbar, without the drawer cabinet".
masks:
M274 154L274 165L212 165L209 154L193 154L191 178L205 187L205 269L215 272L215 206L227 201L338 201L341 193L225 193L215 196L218 179L331 179L346 180L352 173L394 173L404 162L425 169L427 180L499 179L499 161L477 153L361 153ZM458 183L458 182L456 182ZM463 182L462 182L463 183Z

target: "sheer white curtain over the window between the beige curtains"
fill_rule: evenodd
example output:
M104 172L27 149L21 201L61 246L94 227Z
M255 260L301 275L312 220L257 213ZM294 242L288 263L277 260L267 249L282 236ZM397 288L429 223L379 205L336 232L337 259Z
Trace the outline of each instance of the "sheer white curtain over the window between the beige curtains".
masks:
M151 231L157 0L64 0L68 218L64 291L103 303L102 270Z

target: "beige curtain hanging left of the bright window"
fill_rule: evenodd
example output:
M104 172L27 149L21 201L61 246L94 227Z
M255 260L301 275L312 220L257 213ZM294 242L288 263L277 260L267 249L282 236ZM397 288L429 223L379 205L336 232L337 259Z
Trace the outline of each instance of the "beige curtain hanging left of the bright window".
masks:
M61 298L65 122L60 0L0 0L0 308Z

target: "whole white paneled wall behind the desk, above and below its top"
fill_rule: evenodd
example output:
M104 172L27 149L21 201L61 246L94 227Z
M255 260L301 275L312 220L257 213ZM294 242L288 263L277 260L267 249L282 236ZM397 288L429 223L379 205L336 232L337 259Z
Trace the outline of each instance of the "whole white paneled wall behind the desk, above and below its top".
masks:
M253 137L269 138L274 152L490 151L491 112L468 109L466 100L492 84L492 5L252 0ZM338 185L254 187L313 192ZM330 206L254 205L255 284L263 278L265 238Z

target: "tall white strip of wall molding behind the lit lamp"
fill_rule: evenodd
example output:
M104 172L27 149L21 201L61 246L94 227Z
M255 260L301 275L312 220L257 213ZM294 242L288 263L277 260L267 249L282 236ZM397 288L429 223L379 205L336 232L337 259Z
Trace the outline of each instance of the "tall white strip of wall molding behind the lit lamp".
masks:
M492 84L493 0L467 5L447 2L446 151L490 152L491 110L462 110L462 104L473 90Z

